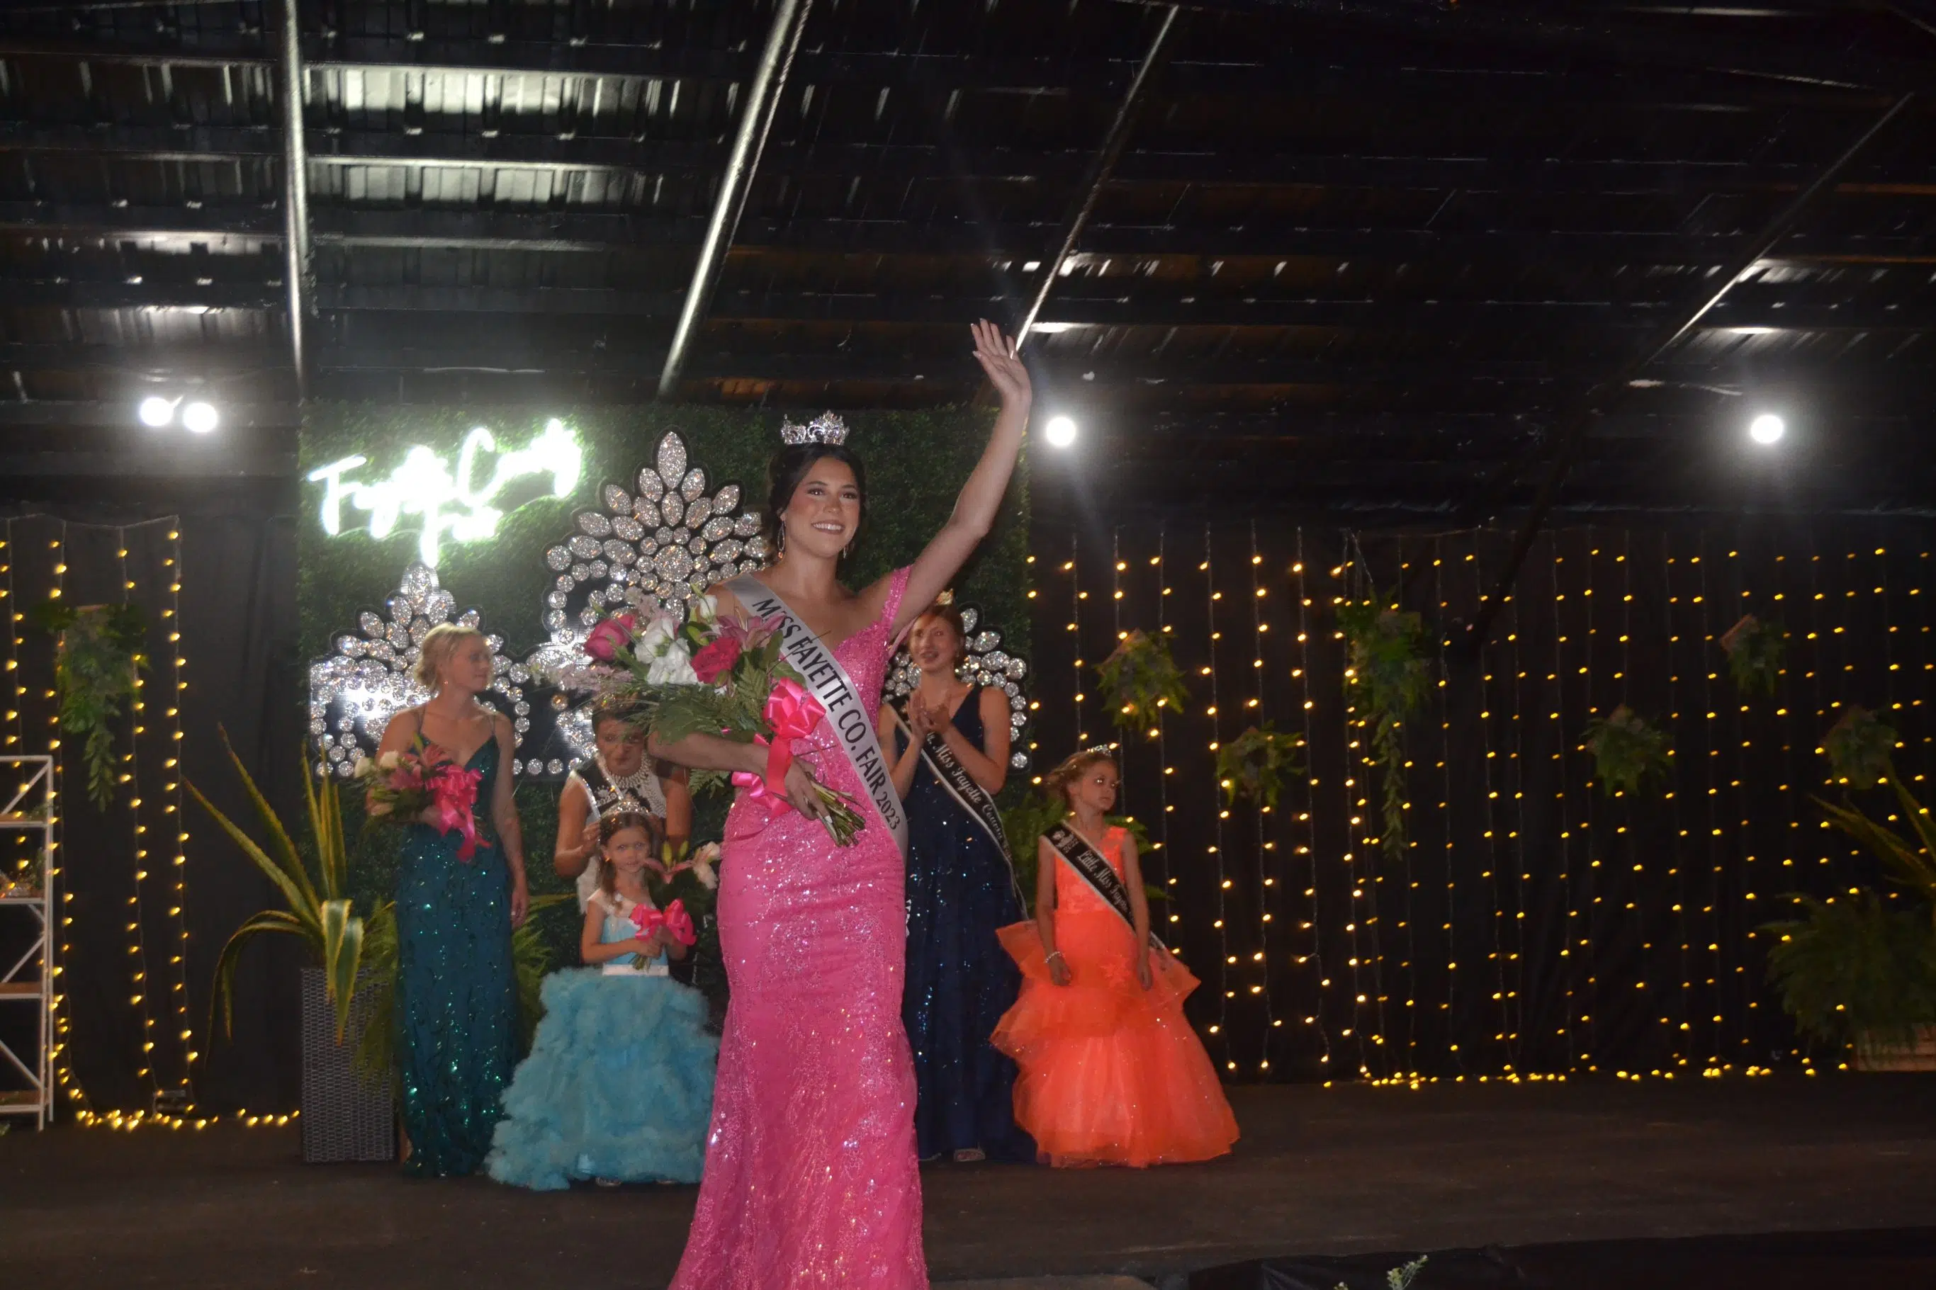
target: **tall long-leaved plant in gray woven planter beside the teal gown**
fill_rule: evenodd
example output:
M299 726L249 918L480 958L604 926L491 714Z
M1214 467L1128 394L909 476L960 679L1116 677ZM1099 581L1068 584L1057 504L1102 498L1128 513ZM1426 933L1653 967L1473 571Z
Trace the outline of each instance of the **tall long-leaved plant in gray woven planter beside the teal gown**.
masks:
M269 799L261 795L242 758L223 748L248 791L250 805L269 845L259 845L228 816L215 808L194 783L188 791L269 878L283 897L281 909L263 909L248 919L223 946L215 961L215 1000L223 1031L234 1029L234 973L242 950L261 934L294 936L310 955L302 969L302 1158L310 1164L335 1160L391 1160L397 1155L389 1068L358 1070L354 1052L376 1025L385 1025L387 1010L378 996L381 971L366 967L366 948L395 946L397 919L391 903L376 905L368 917L354 913L348 895L348 849L343 836L343 805L335 781L319 787L302 776L310 843L316 851L314 874L296 841L283 828ZM211 1019L213 1021L213 1019Z

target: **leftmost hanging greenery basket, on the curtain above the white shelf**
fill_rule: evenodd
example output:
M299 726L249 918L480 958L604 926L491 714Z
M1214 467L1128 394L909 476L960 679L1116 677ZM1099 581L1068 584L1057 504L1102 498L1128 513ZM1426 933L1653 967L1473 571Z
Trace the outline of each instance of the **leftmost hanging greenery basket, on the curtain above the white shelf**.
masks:
M136 673L147 665L147 615L137 605L68 605L48 600L27 621L60 640L54 690L60 694L62 739L81 741L87 797L97 810L114 801L114 721L136 694Z

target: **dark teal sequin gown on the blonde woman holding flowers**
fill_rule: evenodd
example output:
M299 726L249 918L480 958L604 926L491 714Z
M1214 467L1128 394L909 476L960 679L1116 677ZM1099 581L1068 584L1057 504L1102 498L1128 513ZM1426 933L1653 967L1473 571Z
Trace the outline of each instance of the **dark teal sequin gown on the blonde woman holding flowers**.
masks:
M511 870L482 837L498 785L498 741L465 764L484 776L478 849L457 859L459 834L412 824L397 866L397 1054L403 1066L405 1170L472 1174L490 1151L517 1066L517 977L511 969Z

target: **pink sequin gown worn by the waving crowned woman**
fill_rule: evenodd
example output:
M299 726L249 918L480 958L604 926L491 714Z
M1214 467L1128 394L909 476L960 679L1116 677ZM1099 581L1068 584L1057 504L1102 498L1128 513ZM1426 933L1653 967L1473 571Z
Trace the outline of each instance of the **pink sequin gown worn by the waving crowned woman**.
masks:
M834 650L877 696L908 571ZM745 797L726 818L720 952L732 982L699 1211L672 1290L923 1290L914 1062L900 1023L906 861L823 719L796 741L869 824L836 847Z

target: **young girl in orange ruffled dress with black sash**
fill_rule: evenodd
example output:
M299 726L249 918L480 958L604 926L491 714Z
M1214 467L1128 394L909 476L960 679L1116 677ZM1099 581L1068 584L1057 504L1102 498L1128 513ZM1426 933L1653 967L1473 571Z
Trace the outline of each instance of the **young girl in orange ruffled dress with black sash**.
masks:
M1022 1071L1014 1120L1057 1166L1210 1160L1237 1141L1183 1017L1196 977L1150 944L1136 843L1105 822L1119 779L1104 748L1044 777L1069 816L1036 841L1036 919L1001 928L1022 994L993 1039Z

